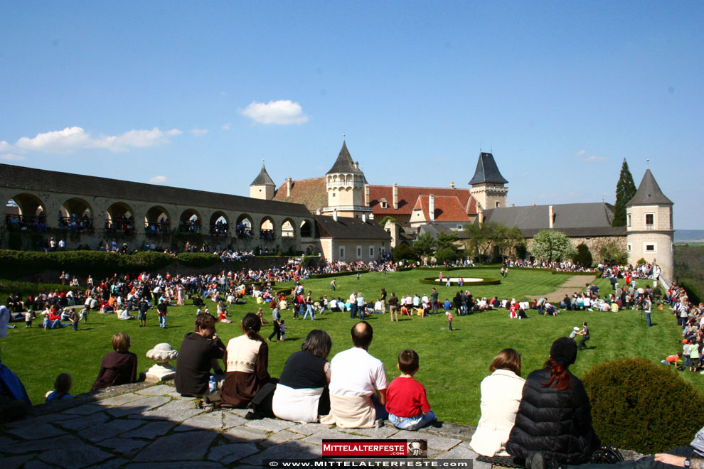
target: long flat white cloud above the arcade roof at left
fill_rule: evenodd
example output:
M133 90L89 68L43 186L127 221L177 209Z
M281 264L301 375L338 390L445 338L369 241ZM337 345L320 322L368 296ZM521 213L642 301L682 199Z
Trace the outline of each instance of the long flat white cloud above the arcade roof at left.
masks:
M14 147L19 151L45 153L75 153L83 149L107 149L119 152L129 151L130 148L168 144L170 136L180 134L181 131L178 129L161 131L154 127L151 130L130 130L121 135L100 135L93 138L81 127L73 126L36 134L33 138L22 137L16 141ZM7 145L9 144L6 141L0 142L0 149Z

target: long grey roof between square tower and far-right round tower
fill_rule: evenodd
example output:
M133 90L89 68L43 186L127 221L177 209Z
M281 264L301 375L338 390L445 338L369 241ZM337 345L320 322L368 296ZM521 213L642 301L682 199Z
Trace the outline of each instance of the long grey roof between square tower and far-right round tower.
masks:
M549 205L498 207L484 211L484 222L517 226L523 236L532 237L550 227ZM553 205L553 228L568 236L620 236L624 227L612 227L614 206L608 203L562 203Z

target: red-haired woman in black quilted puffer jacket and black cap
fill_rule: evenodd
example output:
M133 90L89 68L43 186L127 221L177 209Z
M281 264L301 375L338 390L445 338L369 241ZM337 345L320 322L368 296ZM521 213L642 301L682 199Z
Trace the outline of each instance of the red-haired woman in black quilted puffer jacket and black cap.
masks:
M599 448L589 397L582 381L568 370L576 358L577 343L559 338L550 347L545 368L526 379L506 451L526 460L527 468L538 453L548 467L558 467L587 463Z

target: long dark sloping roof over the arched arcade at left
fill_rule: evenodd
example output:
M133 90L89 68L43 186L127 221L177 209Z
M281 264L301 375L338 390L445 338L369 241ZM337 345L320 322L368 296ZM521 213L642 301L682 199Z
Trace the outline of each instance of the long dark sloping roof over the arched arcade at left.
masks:
M306 210L305 205L298 203L281 203L272 200L242 197L240 195L133 183L127 180L46 171L8 164L0 164L0 186L18 190L69 193L117 200L142 200L154 204L169 203L186 205L187 207L210 207L220 210L291 215L294 217L310 216L310 212Z

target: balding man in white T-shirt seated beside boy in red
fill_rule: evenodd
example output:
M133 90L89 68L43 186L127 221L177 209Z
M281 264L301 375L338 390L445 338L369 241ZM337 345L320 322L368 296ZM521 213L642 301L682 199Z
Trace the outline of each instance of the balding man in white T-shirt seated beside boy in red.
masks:
M386 371L381 360L368 352L372 338L369 323L356 323L352 328L354 347L339 352L330 362L331 415L338 426L373 426L375 420L388 417Z

